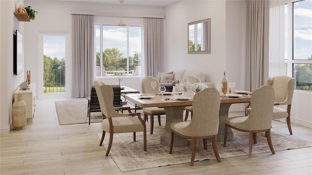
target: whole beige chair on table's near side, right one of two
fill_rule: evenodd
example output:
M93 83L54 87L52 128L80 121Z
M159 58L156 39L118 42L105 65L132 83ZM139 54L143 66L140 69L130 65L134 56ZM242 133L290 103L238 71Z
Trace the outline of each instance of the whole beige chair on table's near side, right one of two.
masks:
M225 120L225 135L223 147L226 146L228 127L242 132L249 132L249 157L252 157L253 140L256 133L265 132L272 154L275 154L271 141L271 124L273 118L274 89L272 86L262 86L254 90L251 97L249 116L231 117Z

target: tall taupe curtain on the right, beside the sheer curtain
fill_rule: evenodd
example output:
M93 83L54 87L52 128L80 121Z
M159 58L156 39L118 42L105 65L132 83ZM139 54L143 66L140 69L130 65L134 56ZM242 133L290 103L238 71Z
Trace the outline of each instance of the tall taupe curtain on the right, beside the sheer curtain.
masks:
M265 85L269 68L269 1L247 1L246 90Z

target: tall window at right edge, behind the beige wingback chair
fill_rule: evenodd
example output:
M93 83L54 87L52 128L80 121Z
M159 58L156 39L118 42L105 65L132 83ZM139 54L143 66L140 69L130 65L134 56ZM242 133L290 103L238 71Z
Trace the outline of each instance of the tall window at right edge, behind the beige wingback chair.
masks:
M295 89L312 91L312 1L288 2L285 4L285 71L296 79Z

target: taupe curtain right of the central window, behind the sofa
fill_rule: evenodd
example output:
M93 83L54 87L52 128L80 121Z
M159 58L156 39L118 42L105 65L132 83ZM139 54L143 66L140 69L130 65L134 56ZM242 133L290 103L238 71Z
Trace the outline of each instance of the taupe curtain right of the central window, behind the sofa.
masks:
M164 63L164 20L144 18L143 22L145 75L156 77Z

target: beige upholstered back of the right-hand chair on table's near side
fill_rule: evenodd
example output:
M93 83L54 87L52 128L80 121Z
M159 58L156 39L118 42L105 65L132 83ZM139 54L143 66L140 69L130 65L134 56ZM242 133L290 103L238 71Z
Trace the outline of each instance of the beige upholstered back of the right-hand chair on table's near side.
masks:
M270 129L273 120L274 89L264 85L253 91L250 104L252 106L248 119L238 123L238 128L247 130Z

